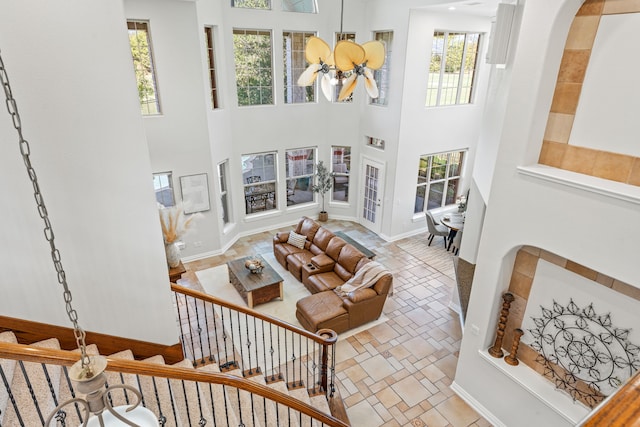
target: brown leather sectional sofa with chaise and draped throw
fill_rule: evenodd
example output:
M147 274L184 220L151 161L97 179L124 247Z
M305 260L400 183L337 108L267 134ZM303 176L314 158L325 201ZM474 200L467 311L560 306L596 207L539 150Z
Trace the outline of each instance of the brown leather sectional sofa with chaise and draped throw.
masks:
M279 232L273 238L273 252L312 293L296 304L296 317L305 329L328 328L340 333L380 317L391 290L391 273L382 275L371 287L341 295L334 289L370 260L311 218L303 217L293 231L306 237L304 247L287 243L289 232Z

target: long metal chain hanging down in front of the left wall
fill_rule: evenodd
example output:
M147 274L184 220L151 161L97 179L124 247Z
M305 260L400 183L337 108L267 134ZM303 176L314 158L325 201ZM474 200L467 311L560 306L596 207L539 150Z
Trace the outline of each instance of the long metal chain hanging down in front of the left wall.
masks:
M60 258L60 251L56 248L55 237L53 234L53 228L51 227L51 221L49 220L49 214L47 213L47 208L44 204L44 198L42 197L42 192L40 191L40 185L38 184L38 177L36 176L36 171L31 166L31 148L29 147L29 142L24 139L22 135L22 121L20 119L20 114L18 113L18 105L16 104L16 100L13 97L13 93L11 92L11 86L9 84L9 76L7 75L7 71L4 67L4 61L2 60L2 54L0 53L0 83L4 89L4 94L6 97L6 105L7 111L9 111L9 115L11 115L11 120L13 121L13 127L18 132L18 140L20 144L20 153L22 155L22 160L24 161L24 165L27 168L27 174L29 175L29 179L31 180L31 184L33 185L33 196L36 199L36 204L38 206L38 214L40 218L44 221L44 236L49 242L49 246L51 247L51 258L53 259L53 265L58 273L58 283L62 285L64 288L64 302L66 306L67 316L69 316L69 320L73 324L73 335L76 338L76 343L78 344L78 348L80 349L82 368L89 366L89 358L87 357L86 352L86 343L85 343L85 332L78 324L78 313L71 305L71 292L69 291L69 287L67 286L67 276L64 272L64 268L62 268L62 260Z

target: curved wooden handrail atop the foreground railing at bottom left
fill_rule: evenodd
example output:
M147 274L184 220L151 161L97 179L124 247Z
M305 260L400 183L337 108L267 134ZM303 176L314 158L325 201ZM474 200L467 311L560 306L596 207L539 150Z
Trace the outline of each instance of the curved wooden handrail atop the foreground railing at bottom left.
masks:
M27 362L44 363L49 365L71 366L80 359L78 353L48 348L32 347L23 344L0 342L0 359L23 360ZM200 372L195 369L178 368L175 366L158 365L137 360L120 360L107 357L107 370L127 374L147 375L169 378L174 380L197 381L201 383L221 384L235 387L247 392L266 397L282 403L296 411L302 412L314 419L333 427L349 427L337 418L327 415L311 405L299 401L287 394L274 390L265 385L248 381L235 375Z

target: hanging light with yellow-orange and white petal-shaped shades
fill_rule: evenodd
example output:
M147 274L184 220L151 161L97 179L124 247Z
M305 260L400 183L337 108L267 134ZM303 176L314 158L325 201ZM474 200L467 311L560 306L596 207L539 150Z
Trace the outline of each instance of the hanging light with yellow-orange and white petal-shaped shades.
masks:
M344 0L340 6L340 34L342 34L342 20L344 16ZM299 86L311 86L320 74L320 87L328 101L331 101L331 86L342 80L342 89L338 101L343 101L356 88L358 77L365 79L365 89L371 98L378 97L378 85L373 78L372 70L384 65L384 44L377 40L363 45L342 40L336 44L334 51L319 37L312 36L305 47L305 57L309 66L298 78Z

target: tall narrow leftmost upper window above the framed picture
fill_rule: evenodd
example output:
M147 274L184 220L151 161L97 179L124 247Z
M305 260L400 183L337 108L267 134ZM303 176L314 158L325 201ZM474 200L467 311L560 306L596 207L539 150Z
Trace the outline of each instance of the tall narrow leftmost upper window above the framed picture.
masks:
M151 50L151 36L147 21L127 21L129 46L136 74L138 98L143 115L160 114L158 84Z

